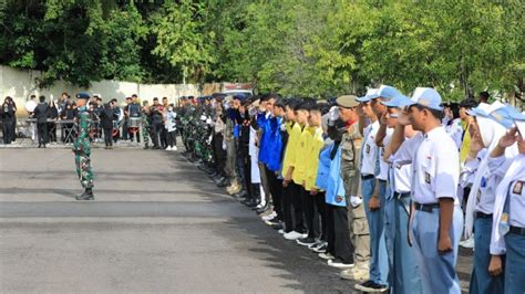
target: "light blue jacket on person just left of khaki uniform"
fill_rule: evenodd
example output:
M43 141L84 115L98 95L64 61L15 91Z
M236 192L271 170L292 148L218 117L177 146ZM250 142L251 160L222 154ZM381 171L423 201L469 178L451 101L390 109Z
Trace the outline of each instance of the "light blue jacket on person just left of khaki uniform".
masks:
M336 156L330 154L337 148ZM326 191L325 202L337 207L347 206L344 185L341 178L341 147L331 144L319 155L316 186Z

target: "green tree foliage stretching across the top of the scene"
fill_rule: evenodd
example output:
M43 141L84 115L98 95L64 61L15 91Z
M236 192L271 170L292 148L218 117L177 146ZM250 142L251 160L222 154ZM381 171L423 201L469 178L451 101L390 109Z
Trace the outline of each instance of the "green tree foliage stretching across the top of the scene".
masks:
M62 78L253 82L284 95L525 91L524 4L506 1L6 0L0 63Z

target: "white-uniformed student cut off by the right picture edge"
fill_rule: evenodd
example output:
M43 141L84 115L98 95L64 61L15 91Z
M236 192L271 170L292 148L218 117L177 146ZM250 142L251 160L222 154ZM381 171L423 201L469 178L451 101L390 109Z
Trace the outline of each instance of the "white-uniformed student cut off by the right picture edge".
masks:
M488 162L491 172L503 176L496 188L490 250L492 255L506 254L506 259L505 264L502 259L491 259L488 272L504 272L504 293L511 294L525 293L525 115L507 109L516 127L500 139ZM514 145L518 155L507 157L506 149Z

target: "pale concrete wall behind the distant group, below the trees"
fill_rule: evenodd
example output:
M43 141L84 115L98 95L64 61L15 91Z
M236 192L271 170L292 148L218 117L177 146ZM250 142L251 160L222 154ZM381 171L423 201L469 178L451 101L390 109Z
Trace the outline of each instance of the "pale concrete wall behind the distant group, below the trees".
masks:
M18 70L0 65L0 103L3 103L6 96L11 96L17 103L20 117L27 116L25 102L31 95L45 95L48 99L52 97L56 101L62 92L73 95L79 92L90 94L101 94L104 102L111 98L117 98L123 102L126 96L137 94L141 99L152 102L153 97L168 97L169 103L175 103L179 96L199 96L209 95L223 90L223 83L193 85L193 84L137 84L119 81L93 82L91 87L82 88L69 83L58 81L50 88L38 88L34 82L39 77L39 71Z

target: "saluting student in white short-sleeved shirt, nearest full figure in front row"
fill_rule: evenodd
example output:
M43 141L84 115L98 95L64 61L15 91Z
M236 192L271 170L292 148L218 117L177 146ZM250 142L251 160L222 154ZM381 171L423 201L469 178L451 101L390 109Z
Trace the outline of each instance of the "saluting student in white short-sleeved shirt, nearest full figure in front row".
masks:
M441 125L443 107L433 88L414 91L408 114L398 118L392 150L412 161L412 207L409 240L415 248L423 293L461 293L455 272L463 212L457 199L459 150ZM406 115L406 116L405 116ZM404 126L421 134L403 144Z

